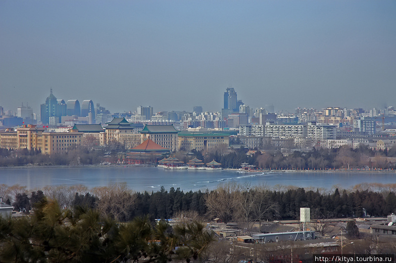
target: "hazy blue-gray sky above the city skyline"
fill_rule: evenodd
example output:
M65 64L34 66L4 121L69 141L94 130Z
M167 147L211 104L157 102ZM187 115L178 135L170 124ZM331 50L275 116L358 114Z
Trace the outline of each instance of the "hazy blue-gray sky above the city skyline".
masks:
M396 106L395 0L1 0L0 105Z

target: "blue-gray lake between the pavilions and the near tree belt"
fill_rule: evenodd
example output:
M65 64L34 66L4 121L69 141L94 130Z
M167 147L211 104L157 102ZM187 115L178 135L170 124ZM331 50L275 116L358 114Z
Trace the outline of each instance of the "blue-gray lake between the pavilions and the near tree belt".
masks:
M206 170L164 170L157 167L46 167L0 169L0 184L20 184L28 190L46 185L77 185L89 188L126 182L135 191L157 191L180 187L184 191L213 189L223 182L250 182L251 185L294 185L331 189L351 188L359 183L396 183L396 173L344 172L238 172Z

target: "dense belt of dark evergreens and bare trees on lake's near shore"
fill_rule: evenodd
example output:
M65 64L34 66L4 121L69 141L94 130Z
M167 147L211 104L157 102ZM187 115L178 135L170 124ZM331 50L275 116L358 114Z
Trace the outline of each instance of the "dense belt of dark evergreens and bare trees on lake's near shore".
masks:
M97 209L101 215L117 221L137 217L171 219L189 217L238 221L251 224L273 219L298 219L299 208L309 207L311 218L330 219L386 216L396 212L395 185L383 185L382 191L335 189L332 193L303 188L271 189L265 185L223 184L212 191L169 191L161 187L157 192L134 192L125 183L96 187L47 187L44 191L27 194L23 187L0 185L0 197L8 199L14 209L29 213L34 204L47 197L57 200L66 209L85 207Z

